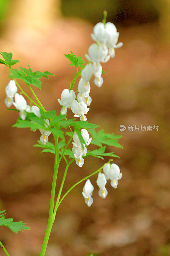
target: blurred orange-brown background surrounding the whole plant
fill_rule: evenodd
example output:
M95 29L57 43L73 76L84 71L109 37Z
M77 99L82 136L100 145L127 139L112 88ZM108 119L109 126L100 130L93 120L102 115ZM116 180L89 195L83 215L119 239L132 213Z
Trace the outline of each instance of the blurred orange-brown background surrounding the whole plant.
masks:
M92 44L90 33L102 20L103 10L108 12L107 21L115 23L124 45L116 50L114 59L103 64L107 75L103 74L102 87L91 80L87 119L105 132L123 135L124 149L114 148L120 156L114 163L123 177L117 189L108 182L104 200L98 196L94 176L91 207L82 196L84 184L70 192L57 212L46 255L168 256L170 2L0 0L0 51L12 52L20 60L16 68L30 65L34 71L55 74L42 79L42 90L35 88L35 92L47 110L59 114L57 98L76 72L64 54L71 50L85 60ZM6 218L26 222L31 231L14 234L1 227L0 240L11 256L38 256L48 219L54 156L32 147L39 131L11 127L18 113L6 111L4 104L8 75L8 68L0 65L0 210L7 210ZM159 125L159 129L120 132L121 124ZM88 158L82 168L73 163L63 192L105 162ZM63 170L64 162L58 184ZM2 250L0 255L4 255Z

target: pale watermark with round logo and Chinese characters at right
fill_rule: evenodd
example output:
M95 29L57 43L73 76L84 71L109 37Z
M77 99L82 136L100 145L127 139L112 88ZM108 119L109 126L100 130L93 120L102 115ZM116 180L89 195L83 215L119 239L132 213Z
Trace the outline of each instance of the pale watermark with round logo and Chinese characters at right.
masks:
M159 125L128 125L128 132L158 132ZM126 131L126 126L121 124L120 125L120 131L124 132Z

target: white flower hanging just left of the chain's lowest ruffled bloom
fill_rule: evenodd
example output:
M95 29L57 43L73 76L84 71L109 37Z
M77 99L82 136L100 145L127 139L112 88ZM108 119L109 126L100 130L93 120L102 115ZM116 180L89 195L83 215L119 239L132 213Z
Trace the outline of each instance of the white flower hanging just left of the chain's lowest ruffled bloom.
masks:
M73 90L69 92L69 89L64 89L61 94L61 100L58 102L63 108L61 109L61 114L65 115L67 113L67 108L71 108L72 101L76 99L76 94Z

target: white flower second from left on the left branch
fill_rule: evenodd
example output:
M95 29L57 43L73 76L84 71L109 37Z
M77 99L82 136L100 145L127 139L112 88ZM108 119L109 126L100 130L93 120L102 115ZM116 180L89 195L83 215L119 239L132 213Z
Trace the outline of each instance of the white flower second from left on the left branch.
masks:
M22 95L19 95L18 93L15 94L15 102L13 102L13 105L19 110L19 116L22 120L26 119L26 100Z

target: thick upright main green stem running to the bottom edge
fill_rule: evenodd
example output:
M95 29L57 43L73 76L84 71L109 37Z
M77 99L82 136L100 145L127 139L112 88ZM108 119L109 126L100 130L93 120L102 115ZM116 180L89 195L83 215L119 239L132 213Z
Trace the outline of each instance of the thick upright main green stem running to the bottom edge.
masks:
M55 199L55 186L56 186L56 180L57 180L57 173L58 173L58 167L59 167L59 150L58 150L58 136L54 135L55 140L55 164L54 164L54 175L53 175L53 183L51 188L51 199L50 199L50 207L49 207L49 217L48 217L48 224L46 233L44 236L44 241L41 248L40 256L44 256L48 244L48 239L51 233L51 228L53 226L53 211L54 211L54 199Z

